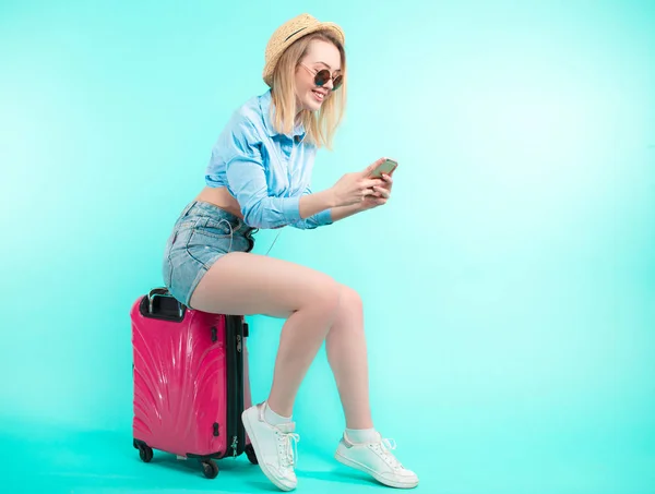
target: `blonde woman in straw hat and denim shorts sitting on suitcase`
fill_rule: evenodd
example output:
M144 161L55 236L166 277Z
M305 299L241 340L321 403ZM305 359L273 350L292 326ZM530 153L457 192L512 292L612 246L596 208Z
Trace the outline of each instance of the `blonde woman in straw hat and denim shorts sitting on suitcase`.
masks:
M269 399L243 425L259 465L281 490L296 487L294 400L323 341L346 417L335 458L395 487L416 474L373 429L359 296L331 277L250 253L259 228L311 229L380 206L392 179L368 178L381 162L312 192L315 152L330 146L345 105L343 31L302 14L279 26L265 52L270 86L233 116L213 148L206 186L178 218L164 277L188 306L212 313L285 318Z

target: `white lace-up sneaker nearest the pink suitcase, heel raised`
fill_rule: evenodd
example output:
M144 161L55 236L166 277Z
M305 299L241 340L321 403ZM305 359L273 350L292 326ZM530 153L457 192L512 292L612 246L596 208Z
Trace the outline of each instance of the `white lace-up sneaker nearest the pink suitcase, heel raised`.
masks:
M296 424L271 425L264 420L264 403L250 407L241 419L264 474L283 491L296 489L294 465L300 441L298 434L294 434Z

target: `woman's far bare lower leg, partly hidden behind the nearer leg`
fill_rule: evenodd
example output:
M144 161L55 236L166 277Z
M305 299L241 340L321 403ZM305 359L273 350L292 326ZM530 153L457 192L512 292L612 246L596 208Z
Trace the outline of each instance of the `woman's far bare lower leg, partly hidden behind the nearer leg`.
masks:
M341 301L325 341L327 360L349 429L373 426L369 403L368 360L359 294L341 286Z

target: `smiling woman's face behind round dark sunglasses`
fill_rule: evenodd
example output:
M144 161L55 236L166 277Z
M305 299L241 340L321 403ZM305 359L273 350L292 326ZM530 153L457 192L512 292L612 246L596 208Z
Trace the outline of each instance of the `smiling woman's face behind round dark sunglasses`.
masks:
M310 43L307 55L296 68L298 111L318 111L329 97L333 88L332 79L322 86L317 86L314 82L315 74L324 69L330 71L332 77L340 75L341 55L332 43L314 39Z

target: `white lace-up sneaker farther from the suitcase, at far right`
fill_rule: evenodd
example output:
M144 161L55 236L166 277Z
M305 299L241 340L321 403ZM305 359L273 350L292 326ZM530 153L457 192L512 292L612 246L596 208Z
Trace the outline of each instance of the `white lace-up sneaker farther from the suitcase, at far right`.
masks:
M418 477L405 469L391 453L395 443L383 439L373 443L353 443L344 435L338 443L334 458L347 467L355 468L372 475L378 482L398 489L412 489L418 485Z

